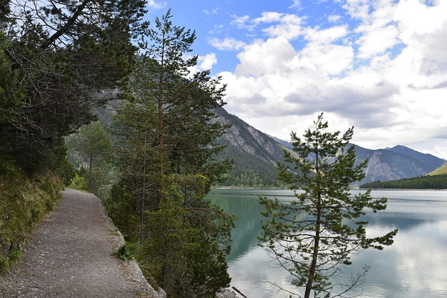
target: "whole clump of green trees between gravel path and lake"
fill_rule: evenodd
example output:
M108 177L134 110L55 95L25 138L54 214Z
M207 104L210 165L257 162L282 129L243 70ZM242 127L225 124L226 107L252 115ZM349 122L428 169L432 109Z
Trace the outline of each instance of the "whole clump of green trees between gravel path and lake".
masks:
M145 30L143 54L110 128L122 177L105 202L135 255L169 297L215 297L228 285L225 255L233 217L205 200L230 161L216 161L214 143L226 126L214 121L223 105L220 79L189 75L195 33L173 26L168 12Z

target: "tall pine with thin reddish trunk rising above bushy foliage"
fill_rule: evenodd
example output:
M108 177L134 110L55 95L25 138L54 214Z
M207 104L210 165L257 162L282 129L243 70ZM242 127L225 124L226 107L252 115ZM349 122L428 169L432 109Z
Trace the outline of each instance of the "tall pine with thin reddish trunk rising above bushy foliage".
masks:
M135 75L133 90L145 88L145 100L154 105L158 152L158 188L170 172L193 174L206 172L213 182L230 167L229 161L211 163L223 147L214 143L226 126L217 121L213 110L221 107L225 86L210 70L191 74L197 56L187 59L196 33L174 26L170 10L155 28L147 29L140 47L145 52ZM162 200L159 191L156 204Z

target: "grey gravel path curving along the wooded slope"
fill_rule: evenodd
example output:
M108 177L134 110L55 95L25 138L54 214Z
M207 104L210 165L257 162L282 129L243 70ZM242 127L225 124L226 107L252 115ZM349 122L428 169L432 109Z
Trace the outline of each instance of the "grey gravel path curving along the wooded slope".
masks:
M98 198L66 189L20 262L0 276L0 297L159 297L135 261L112 256L123 243L117 234Z

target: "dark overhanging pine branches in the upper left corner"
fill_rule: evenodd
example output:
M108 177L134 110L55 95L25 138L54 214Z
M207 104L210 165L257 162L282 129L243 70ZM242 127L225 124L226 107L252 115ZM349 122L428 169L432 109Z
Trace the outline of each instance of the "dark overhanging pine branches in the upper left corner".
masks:
M131 73L143 13L141 0L3 1L1 52L15 74L9 88L23 96L0 135L23 170L46 167L61 137L115 97L110 90Z

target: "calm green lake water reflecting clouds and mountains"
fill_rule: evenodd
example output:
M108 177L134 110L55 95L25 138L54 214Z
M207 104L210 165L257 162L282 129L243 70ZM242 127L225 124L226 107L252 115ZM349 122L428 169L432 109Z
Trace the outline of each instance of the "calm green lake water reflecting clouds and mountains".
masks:
M362 192L353 190L352 194ZM286 298L288 293L271 283L297 292L284 269L276 266L258 246L261 234L258 195L290 201L288 190L213 189L208 198L228 214L239 219L233 229L233 245L228 255L231 285L249 298ZM392 246L372 250L352 258L349 269L358 272L369 265L359 297L364 298L431 298L447 297L447 191L372 191L373 198L388 198L385 211L367 214L368 234L385 234L398 228ZM292 296L298 297L298 296Z

